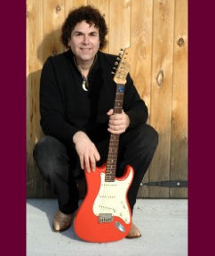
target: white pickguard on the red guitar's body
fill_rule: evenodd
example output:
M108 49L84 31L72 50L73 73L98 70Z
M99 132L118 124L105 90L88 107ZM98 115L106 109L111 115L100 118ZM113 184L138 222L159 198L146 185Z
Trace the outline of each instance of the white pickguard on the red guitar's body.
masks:
M131 222L129 208L126 202L126 191L131 184L132 169L124 180L114 182L105 181L105 173L100 174L100 191L93 203L92 211L99 216L100 213L110 213L125 223Z

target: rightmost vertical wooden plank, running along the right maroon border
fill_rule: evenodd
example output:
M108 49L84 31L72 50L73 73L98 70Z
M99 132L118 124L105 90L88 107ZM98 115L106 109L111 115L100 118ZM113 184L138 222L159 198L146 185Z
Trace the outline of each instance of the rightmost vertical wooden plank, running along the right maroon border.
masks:
M171 117L171 180L187 180L187 0L176 0ZM170 196L187 197L187 188Z

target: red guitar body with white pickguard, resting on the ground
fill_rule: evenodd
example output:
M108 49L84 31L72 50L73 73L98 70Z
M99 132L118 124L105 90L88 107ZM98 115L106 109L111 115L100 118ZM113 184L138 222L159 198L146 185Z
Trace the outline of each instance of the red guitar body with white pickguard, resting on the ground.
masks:
M131 209L127 192L133 169L127 166L123 177L106 181L106 165L87 173L87 193L76 213L76 235L88 242L106 243L123 239L131 229Z

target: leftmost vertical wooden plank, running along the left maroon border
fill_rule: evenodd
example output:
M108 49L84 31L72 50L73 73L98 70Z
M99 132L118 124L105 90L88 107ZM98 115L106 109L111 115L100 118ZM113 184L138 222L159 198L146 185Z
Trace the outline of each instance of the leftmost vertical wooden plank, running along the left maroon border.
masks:
M43 178L36 171L33 149L42 130L39 126L39 77L42 63L37 47L43 35L43 1L27 1L27 194L43 196ZM36 25L35 25L36 24Z

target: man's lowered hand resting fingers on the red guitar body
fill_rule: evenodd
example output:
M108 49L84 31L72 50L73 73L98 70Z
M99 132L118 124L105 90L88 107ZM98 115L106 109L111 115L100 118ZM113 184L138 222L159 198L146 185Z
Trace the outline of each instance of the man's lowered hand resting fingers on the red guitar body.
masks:
M81 168L87 172L95 171L96 161L100 160L100 153L90 138L82 131L76 132L73 136L73 142L76 145L76 152L79 155Z

